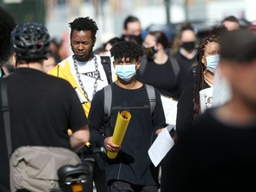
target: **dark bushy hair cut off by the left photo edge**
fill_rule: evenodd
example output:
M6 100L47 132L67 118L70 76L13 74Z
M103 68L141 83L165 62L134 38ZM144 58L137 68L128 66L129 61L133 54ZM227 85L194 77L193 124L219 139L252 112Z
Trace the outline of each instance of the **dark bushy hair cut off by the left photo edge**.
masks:
M11 32L15 26L12 15L0 6L0 64L4 64L12 55Z

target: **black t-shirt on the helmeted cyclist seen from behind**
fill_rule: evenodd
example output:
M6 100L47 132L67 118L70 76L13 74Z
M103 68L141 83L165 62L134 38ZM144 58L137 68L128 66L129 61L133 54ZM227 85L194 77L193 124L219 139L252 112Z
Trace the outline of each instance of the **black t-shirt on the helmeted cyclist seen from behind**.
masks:
M76 132L87 124L84 109L72 86L63 79L32 68L16 68L6 80L12 151L27 145L70 148L68 128ZM9 166L3 116L0 116L0 124L0 183L6 184Z

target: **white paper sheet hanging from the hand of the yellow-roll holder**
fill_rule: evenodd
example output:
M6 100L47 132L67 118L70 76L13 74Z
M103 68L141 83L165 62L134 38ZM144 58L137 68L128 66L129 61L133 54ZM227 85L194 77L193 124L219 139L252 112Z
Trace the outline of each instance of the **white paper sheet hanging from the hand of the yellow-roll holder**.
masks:
M174 140L172 140L172 137L169 134L169 131L171 131L172 128L173 125L165 127L165 129L159 133L152 146L148 149L148 156L155 166L162 161L164 156L166 156L168 151L174 145Z

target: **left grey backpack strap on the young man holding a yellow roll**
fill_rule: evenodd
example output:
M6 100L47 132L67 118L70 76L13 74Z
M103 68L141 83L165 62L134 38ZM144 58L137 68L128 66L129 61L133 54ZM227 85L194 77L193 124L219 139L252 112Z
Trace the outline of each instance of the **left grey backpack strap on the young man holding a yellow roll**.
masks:
M111 105L112 105L111 84L108 84L103 89L104 89L104 122L108 123L108 118L110 117Z

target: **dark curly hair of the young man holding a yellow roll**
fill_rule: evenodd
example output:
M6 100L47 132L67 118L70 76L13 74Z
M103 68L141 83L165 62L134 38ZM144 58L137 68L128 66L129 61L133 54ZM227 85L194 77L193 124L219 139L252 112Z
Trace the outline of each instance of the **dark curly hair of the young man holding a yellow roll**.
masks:
M137 62L143 55L143 49L139 44L123 41L115 44L110 49L110 53L115 60L122 60L124 58L124 60L136 60Z

